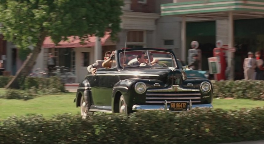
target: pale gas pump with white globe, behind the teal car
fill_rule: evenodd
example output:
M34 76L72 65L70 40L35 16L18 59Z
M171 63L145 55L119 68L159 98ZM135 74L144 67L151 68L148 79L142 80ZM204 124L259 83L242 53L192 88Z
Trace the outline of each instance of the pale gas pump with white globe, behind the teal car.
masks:
M188 50L188 65L195 61L195 59L192 57L194 54L198 54L198 60L199 60L199 70L202 70L202 52L200 49L198 49L199 43L197 41L191 42L191 49ZM192 66L190 67L192 68Z

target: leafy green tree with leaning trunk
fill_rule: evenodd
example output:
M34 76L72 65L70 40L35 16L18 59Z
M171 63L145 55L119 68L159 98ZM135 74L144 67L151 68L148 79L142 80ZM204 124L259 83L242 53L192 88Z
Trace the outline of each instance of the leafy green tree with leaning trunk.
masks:
M0 32L19 50L33 46L6 88L19 88L18 79L33 68L46 36L54 43L78 36L103 37L111 30L112 40L120 31L123 0L0 0Z

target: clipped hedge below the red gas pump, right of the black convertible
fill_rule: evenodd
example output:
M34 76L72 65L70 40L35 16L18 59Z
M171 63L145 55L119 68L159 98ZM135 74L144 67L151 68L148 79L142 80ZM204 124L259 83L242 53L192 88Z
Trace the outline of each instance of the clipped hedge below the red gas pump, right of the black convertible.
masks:
M226 80L212 81L215 98L247 98L264 100L264 81Z

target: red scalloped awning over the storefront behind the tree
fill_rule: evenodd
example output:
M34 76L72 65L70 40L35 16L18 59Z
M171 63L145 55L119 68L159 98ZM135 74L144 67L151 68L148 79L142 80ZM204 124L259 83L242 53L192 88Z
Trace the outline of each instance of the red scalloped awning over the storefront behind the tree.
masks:
M107 39L110 37L110 32L106 32L105 36L101 38L101 45L104 45L104 43L107 41ZM80 44L81 40L79 37L71 36L68 37L69 41L60 41L58 45L56 46L55 43L52 42L50 37L46 37L42 47L43 48L75 48L75 47L93 47L95 46L96 37L92 36L89 37L88 41L84 41L84 44Z

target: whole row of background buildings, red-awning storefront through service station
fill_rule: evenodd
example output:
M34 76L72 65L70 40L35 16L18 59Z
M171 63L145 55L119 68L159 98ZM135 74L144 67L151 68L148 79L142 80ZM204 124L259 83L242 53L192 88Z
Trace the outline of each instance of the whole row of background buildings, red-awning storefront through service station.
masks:
M129 48L173 50L177 58L187 63L190 43L198 41L202 70L208 70L207 58L213 56L215 42L222 40L224 45L236 48L235 53L226 54L227 62L233 68L233 78L243 79L242 65L247 52L264 54L264 2L260 0L124 0L124 3L122 31L117 42L111 42L107 35L100 41L93 38L87 46L72 43L54 46L46 41L34 69L46 68L48 53L53 53L56 65L70 67L76 75L75 82L81 82L88 65L103 59L106 51L125 47L125 43ZM7 42L7 59L17 53L13 49ZM13 66L13 61L6 62L8 70L14 71L13 67L18 69L21 65L16 60Z

